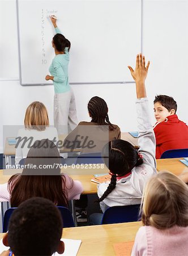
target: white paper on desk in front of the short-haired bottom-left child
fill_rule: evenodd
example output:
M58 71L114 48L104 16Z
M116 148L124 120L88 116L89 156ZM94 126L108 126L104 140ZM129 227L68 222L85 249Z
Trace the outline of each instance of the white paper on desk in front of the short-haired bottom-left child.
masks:
M54 256L58 256L58 255L76 256L82 241L81 240L65 239L65 238L61 239L61 241L63 241L65 243L64 253L63 254L54 253L53 255ZM2 251L8 250L9 248L10 247L3 245L2 240L0 241L0 253L2 253Z

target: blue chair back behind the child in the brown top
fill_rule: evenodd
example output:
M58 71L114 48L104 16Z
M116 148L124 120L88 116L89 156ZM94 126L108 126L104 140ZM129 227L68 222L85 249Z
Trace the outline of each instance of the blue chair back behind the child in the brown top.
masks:
M101 152L96 153L84 153L80 154L76 160L76 164L96 164L96 163L104 163L102 159Z

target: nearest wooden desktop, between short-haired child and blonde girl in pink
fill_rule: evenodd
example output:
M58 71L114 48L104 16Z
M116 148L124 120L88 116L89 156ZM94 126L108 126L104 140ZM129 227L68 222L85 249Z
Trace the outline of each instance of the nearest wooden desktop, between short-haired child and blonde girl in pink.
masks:
M62 238L82 240L80 255L115 255L113 243L134 241L141 222L80 226L63 229ZM4 234L0 234L2 238Z

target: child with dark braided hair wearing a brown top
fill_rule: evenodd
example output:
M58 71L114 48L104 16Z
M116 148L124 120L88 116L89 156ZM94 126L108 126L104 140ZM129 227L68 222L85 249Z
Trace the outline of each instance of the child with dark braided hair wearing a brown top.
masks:
M88 102L88 114L91 122L80 122L66 137L64 147L70 146L74 149L79 144L82 153L101 152L106 142L121 138L119 127L112 125L109 121L108 106L105 100L98 96L92 97ZM90 145L88 142L93 142L93 145L88 146Z

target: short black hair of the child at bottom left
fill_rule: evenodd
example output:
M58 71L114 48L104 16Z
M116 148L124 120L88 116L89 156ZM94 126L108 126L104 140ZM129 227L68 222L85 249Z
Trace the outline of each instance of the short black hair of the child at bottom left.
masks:
M32 197L19 205L8 225L8 244L15 255L52 255L62 236L62 218L48 199Z

